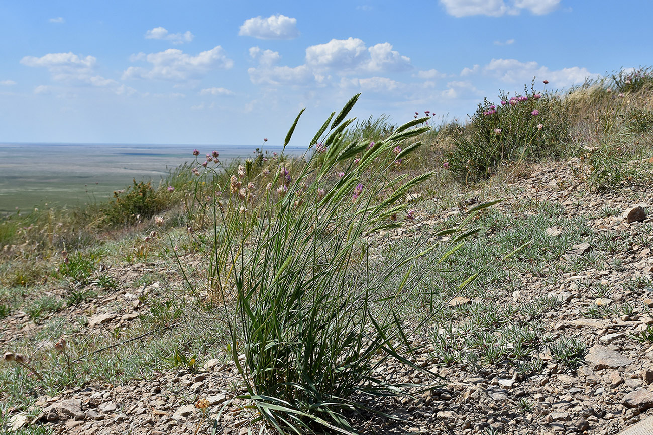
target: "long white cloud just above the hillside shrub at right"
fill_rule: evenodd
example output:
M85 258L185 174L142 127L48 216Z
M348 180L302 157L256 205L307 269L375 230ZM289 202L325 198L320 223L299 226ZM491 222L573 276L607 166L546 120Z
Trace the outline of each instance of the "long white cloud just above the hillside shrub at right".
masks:
M599 74L593 74L581 67L551 71L535 61L520 62L517 59L492 59L488 65L483 67L483 72L495 76L503 82L518 84L530 82L535 77L535 80L548 80L552 86L558 88L580 84L588 77L599 76Z

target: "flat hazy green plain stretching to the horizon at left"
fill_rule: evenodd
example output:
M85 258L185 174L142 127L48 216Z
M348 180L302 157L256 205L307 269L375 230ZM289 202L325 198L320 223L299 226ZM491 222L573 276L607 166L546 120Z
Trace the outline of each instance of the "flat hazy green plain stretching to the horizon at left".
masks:
M133 179L158 185L170 170L194 160L194 148L202 161L217 150L224 164L251 156L256 146L0 143L0 214L105 202Z

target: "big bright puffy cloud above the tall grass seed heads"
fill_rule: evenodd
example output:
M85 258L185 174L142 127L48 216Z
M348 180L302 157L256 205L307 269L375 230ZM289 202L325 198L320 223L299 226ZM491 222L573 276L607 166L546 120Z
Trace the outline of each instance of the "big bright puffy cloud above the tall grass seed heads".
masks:
M409 57L392 50L389 42L367 48L362 40L352 37L332 39L326 44L306 48L306 64L340 73L406 71L412 68Z

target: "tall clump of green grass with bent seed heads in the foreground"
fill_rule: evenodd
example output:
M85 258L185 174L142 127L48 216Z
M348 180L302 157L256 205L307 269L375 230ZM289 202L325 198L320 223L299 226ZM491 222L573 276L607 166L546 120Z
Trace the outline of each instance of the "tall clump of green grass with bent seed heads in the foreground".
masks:
M357 99L328 117L302 158L282 153L276 167L263 169L246 161L227 184L212 187L208 295L224 307L245 397L284 434L353 434L349 417L368 409L365 396L406 386L388 383L379 364L394 358L424 370L400 351L410 349L398 309L411 279L390 288L389 278L436 245L418 243L386 270L365 265L368 234L399 225L406 193L433 175L392 172L420 146L407 141L428 127L415 127L419 118L373 144L343 140ZM206 180L220 179L215 166L205 168ZM439 234L459 244L475 232L462 227Z

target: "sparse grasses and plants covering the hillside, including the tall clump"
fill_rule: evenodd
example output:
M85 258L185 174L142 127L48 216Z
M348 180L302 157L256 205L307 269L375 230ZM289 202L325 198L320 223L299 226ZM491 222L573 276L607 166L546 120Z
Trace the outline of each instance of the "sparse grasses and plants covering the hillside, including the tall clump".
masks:
M257 429L355 433L388 418L387 396L426 401L442 374L501 387L581 370L592 343L570 305L581 325L646 322L606 340L651 342L650 223L624 225L626 200L577 213L608 191L649 201L637 185L653 169L651 83L644 68L564 94L532 84L464 124L357 123L355 98L301 157L263 144L223 165L198 150L159 186L3 218L0 339L14 359L0 367L0 425L38 415L41 395L200 379L217 359L230 373L219 406L185 381L161 389L203 407L198 430L238 409ZM541 159L558 159L541 176L573 176L518 184Z

